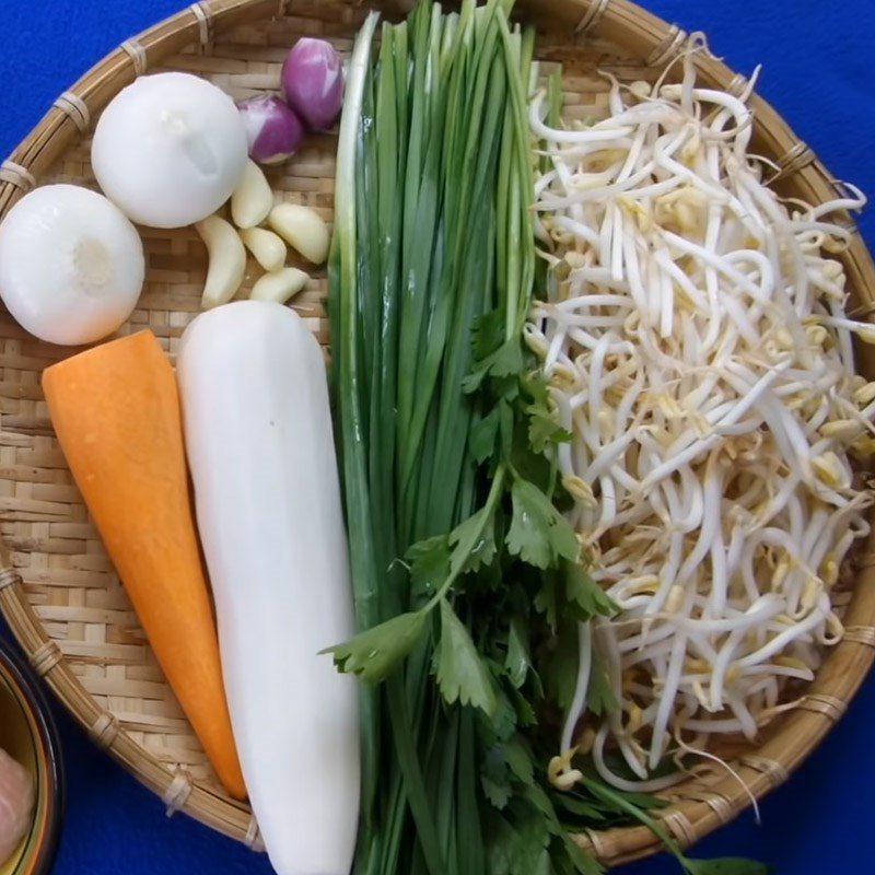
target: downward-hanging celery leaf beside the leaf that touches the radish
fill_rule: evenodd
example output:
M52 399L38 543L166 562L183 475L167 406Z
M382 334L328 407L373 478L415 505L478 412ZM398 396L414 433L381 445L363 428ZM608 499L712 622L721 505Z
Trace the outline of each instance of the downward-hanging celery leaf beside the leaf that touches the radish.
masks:
M495 690L482 657L464 623L445 599L441 599L441 641L435 654L438 686L448 704L495 710Z

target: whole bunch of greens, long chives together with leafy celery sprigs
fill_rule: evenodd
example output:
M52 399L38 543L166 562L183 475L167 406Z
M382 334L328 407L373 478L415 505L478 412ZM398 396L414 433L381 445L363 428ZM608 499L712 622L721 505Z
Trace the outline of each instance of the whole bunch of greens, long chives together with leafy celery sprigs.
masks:
M539 752L576 623L614 606L522 339L534 33L511 7L421 2L378 48L372 14L348 74L329 317L360 633L332 653L365 681L359 875L598 873L570 830L658 804L593 774L559 793Z

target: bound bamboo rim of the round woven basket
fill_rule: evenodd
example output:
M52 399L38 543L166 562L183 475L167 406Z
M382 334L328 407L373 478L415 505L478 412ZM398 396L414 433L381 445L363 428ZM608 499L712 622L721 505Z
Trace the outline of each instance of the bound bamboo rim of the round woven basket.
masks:
M361 5L361 0L343 0ZM0 218L22 194L89 129L92 116L138 75L189 46L208 52L218 33L235 25L290 13L295 0L202 0L143 31L109 52L71 89L61 94L39 124L0 166ZM393 2L380 3L392 8ZM677 56L688 34L646 12L629 0L521 0L518 9L552 25L573 28L585 50L593 34L611 40L658 67ZM697 55L699 75L707 82L739 93L747 80L709 51ZM775 179L792 179L794 190L809 202L822 202L840 189L815 153L793 133L781 116L760 96L751 95L755 137L760 152L778 165ZM853 226L852 226L853 228ZM855 228L853 228L855 231ZM842 256L860 308L875 311L875 265L859 233ZM761 797L783 783L814 750L829 728L844 714L875 660L875 536L871 536L855 562L856 582L845 614L845 635L833 649L817 677L806 689L798 709L780 720L777 731L756 751L733 765L755 796ZM31 606L23 581L8 547L0 541L0 610L13 634L54 693L101 748L139 781L156 793L170 813L183 810L209 827L261 850L258 827L248 806L220 796L190 779L185 770L171 772L154 756L120 730L84 689L46 633ZM748 804L739 783L712 773L686 781L663 794L670 805L658 813L663 825L681 847L688 847ZM609 865L629 862L660 850L658 840L644 827L590 830L580 843Z

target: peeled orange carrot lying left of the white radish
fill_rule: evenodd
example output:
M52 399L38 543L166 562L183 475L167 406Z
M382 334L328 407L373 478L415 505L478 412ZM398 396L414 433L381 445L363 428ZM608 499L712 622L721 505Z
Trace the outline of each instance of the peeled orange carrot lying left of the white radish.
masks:
M244 798L198 550L173 368L151 331L48 368L77 486L159 663L228 792Z

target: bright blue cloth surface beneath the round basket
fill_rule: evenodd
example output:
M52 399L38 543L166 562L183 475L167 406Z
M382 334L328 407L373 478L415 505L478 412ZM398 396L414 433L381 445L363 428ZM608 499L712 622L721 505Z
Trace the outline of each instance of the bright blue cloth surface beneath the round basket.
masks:
M183 0L0 0L0 158L51 101L124 39L176 12ZM365 0L366 2L366 0ZM875 3L872 0L648 0L749 72L759 92L831 172L875 195ZM875 211L861 220L875 246ZM8 631L0 627L0 634ZM268 875L256 856L160 802L97 752L60 708L69 800L56 875ZM702 855L746 854L784 875L875 872L875 676L827 742L762 805L701 843ZM290 825L293 828L293 825ZM676 873L654 859L619 875Z

